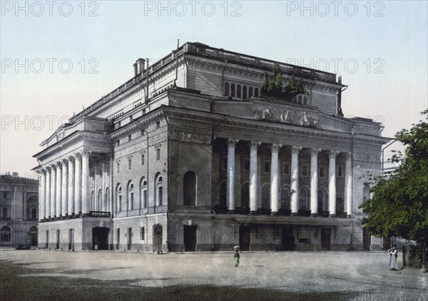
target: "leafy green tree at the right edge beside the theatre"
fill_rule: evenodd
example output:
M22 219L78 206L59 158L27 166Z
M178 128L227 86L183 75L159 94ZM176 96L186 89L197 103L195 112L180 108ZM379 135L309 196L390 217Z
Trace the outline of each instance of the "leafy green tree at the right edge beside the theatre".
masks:
M395 134L406 146L392 156L399 168L377 179L373 197L360 206L369 215L364 228L374 236L428 243L428 110L422 115L425 121Z

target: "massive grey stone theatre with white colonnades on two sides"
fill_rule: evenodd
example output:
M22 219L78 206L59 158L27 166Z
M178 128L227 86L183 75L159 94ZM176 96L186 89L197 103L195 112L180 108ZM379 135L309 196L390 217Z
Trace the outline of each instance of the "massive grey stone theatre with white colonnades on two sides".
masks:
M39 247L370 250L358 206L390 139L343 116L340 78L200 43L147 61L34 155Z

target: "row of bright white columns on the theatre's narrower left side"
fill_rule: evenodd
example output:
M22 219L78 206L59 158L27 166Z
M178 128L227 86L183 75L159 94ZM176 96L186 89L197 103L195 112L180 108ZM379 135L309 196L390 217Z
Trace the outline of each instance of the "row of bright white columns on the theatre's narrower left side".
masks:
M88 214L89 151L81 151L39 170L39 220Z

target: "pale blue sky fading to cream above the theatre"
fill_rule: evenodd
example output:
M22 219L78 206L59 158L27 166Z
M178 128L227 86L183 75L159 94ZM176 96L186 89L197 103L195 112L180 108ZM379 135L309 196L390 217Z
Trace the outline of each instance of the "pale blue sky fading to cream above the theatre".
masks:
M41 141L177 39L337 73L345 117L392 138L428 108L427 3L1 1L0 171L34 177Z

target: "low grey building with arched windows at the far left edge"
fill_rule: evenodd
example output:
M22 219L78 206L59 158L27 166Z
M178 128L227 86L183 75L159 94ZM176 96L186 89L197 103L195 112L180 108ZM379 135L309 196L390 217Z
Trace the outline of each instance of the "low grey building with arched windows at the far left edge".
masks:
M0 179L0 247L37 246L39 181L4 173Z

